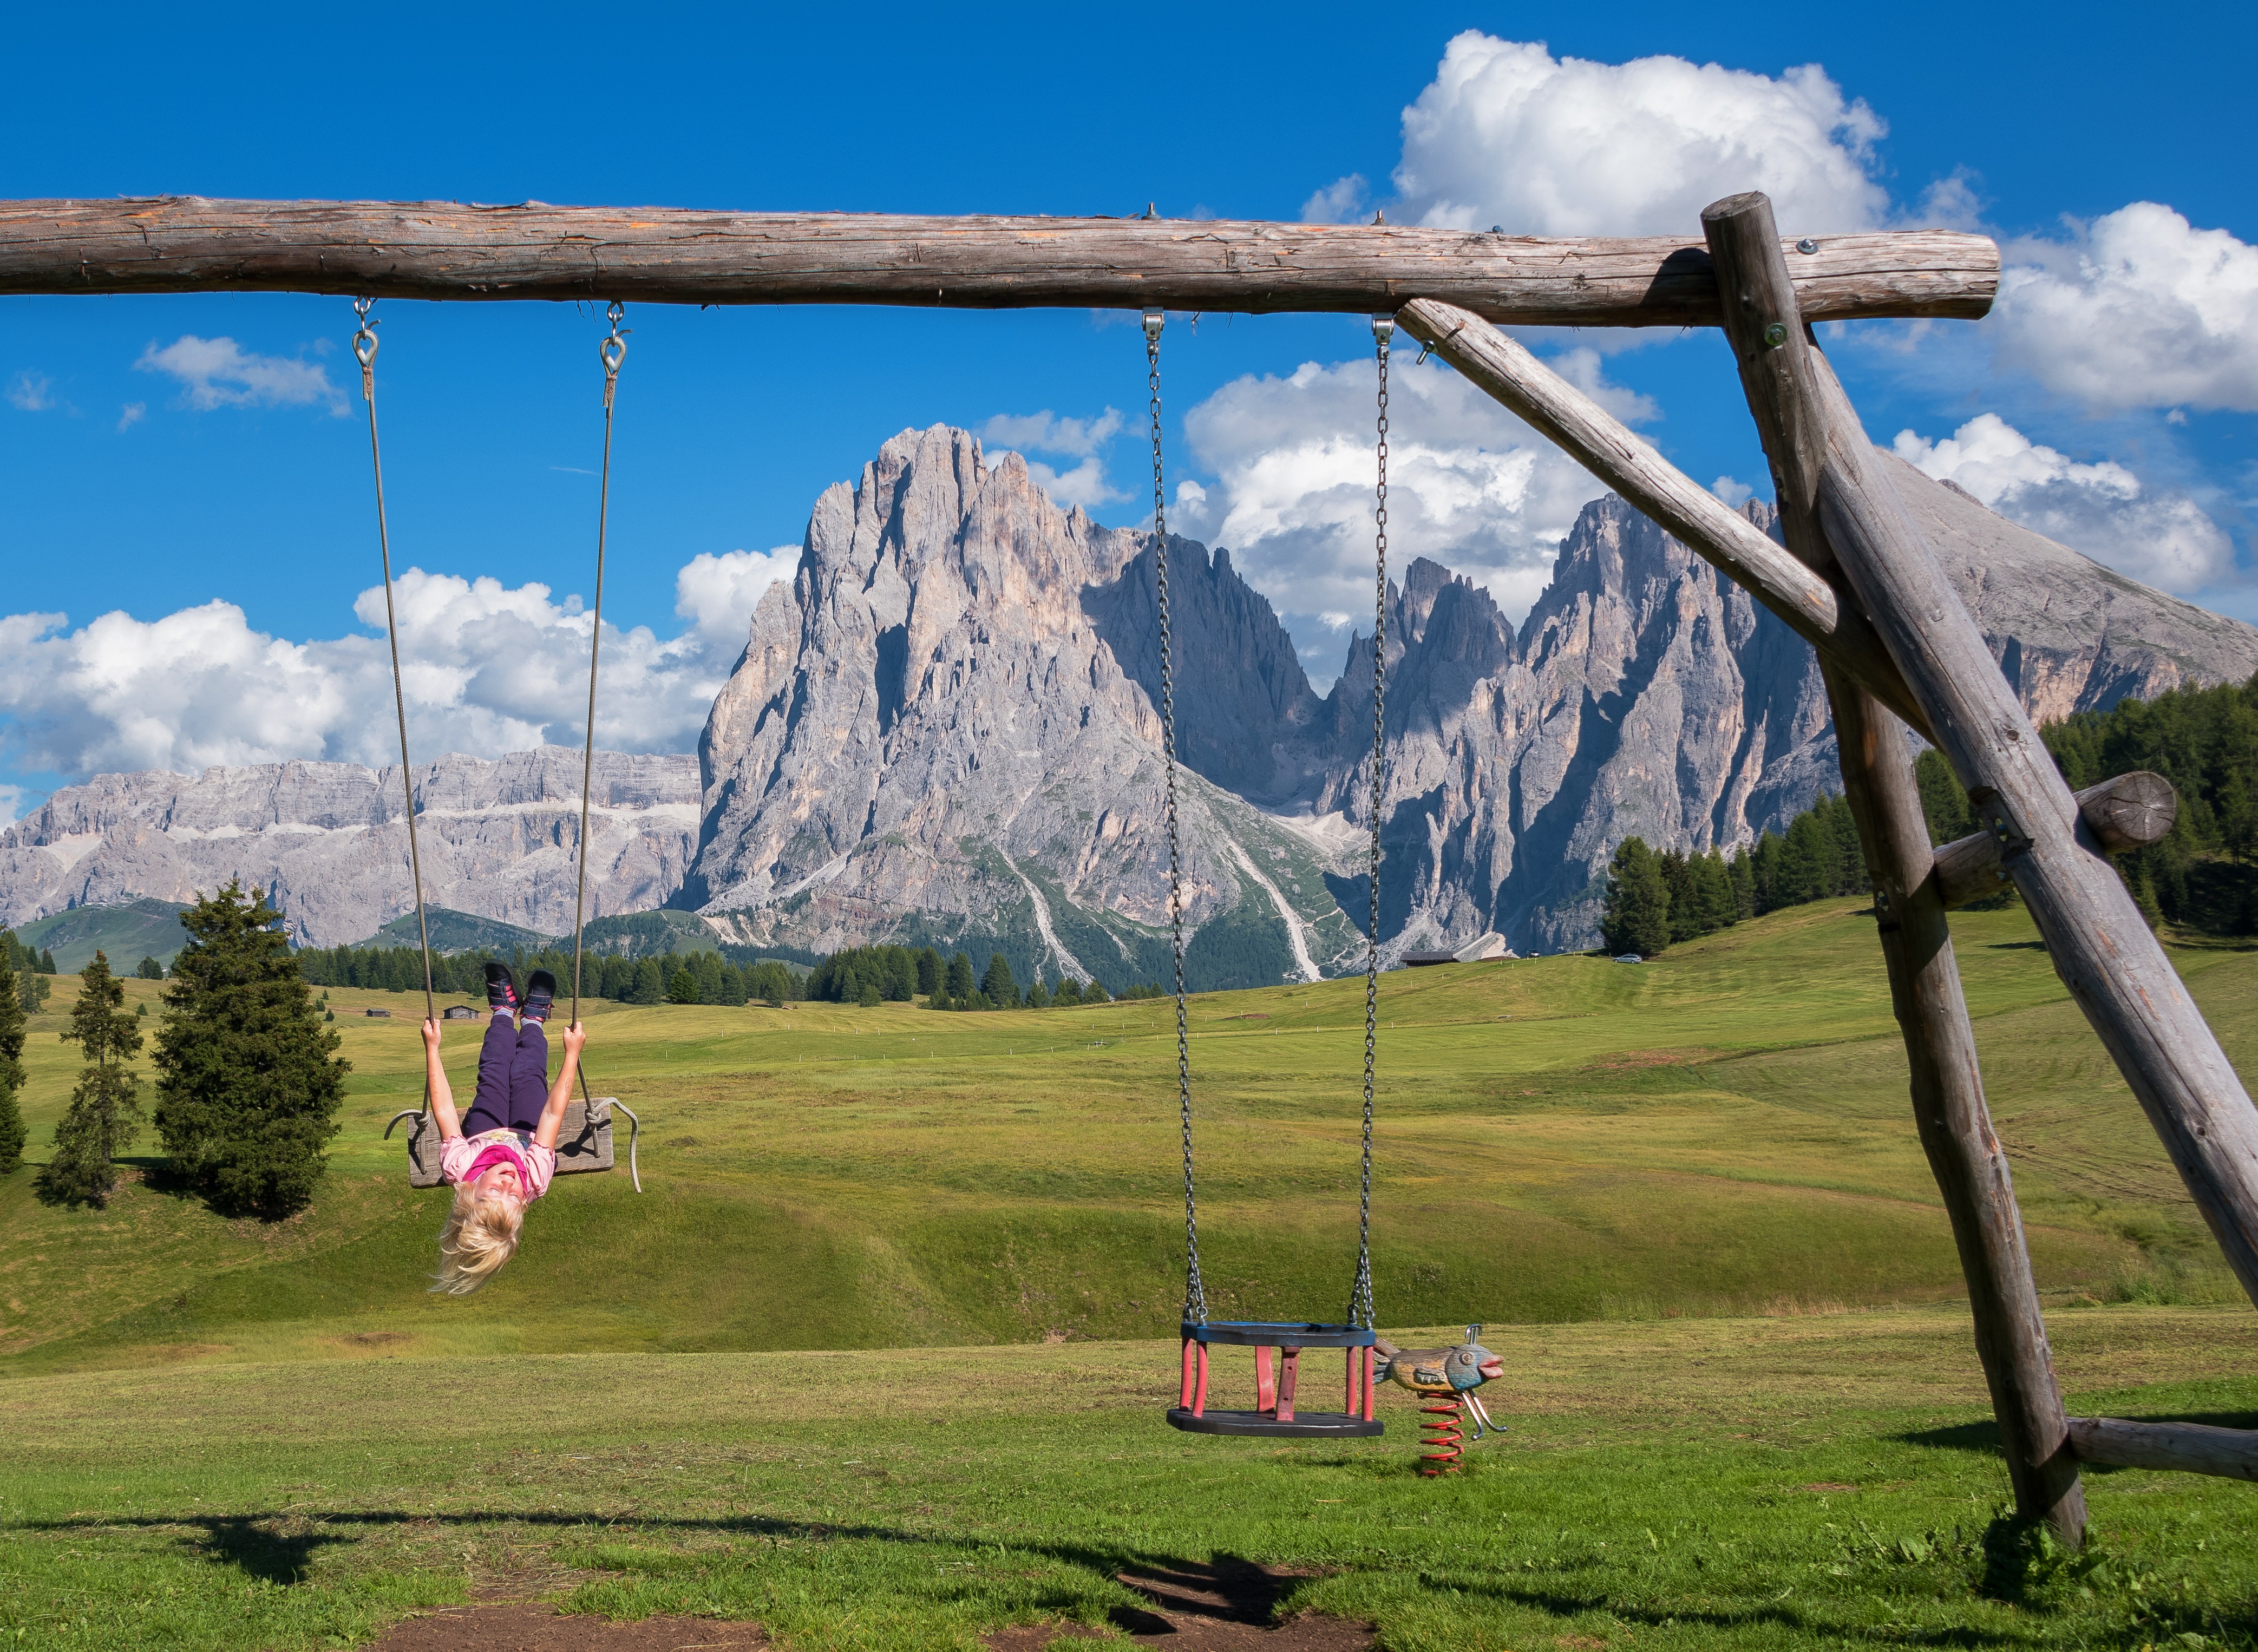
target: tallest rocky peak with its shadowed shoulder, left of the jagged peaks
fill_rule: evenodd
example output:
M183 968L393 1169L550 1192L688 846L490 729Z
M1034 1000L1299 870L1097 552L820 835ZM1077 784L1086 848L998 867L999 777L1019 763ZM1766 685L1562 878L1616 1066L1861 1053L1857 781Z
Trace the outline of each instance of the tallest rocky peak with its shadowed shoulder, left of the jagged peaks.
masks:
M944 427L890 440L815 503L797 578L770 587L714 702L684 900L745 941L930 941L1003 950L1023 979L1161 977L1152 573L1140 535L1059 510L1016 454L989 467ZM1176 542L1172 596L1188 970L1312 975L1355 943L1332 855L1237 792L1316 772L1319 702L1228 557Z

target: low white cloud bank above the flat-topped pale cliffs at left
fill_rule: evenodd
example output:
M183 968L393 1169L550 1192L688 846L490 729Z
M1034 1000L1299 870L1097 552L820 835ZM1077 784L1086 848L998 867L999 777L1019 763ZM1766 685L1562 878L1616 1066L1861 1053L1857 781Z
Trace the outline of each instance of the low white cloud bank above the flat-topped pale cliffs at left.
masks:
M797 548L700 555L675 580L689 625L671 639L605 623L596 745L691 752L745 645L752 603ZM409 749L499 756L578 745L589 616L544 585L409 569L393 585ZM0 749L70 776L196 772L226 763L397 761L384 587L355 600L377 634L294 643L235 603L156 621L124 612L70 630L63 614L0 616Z

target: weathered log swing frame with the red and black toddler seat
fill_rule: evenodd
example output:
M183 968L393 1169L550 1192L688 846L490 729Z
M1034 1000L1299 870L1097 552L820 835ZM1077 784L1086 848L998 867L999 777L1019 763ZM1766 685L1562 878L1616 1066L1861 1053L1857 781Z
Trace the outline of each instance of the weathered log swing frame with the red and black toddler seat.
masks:
M1937 562L1940 537L1980 535L1964 515L1971 508L1876 454L1811 332L1820 320L1976 320L1998 289L1998 248L1946 230L1782 239L1761 194L1709 205L1700 228L1698 241L1540 239L1495 228L1172 221L1152 212L948 219L533 201L14 201L0 203L0 293L1393 318L1818 650L1913 1070L1915 1124L1967 1273L2016 1512L2075 1546L2084 1537L2080 1462L2249 1480L2258 1478L2258 1433L2064 1413L1944 914L2003 880L2021 891L2071 998L2258 1302L2258 1108L2107 860L2111 849L2161 835L2170 790L2154 776L2125 776L2071 794ZM1786 548L1499 325L1723 327L1770 460ZM1156 336L1147 323L1149 350ZM1983 821L1978 837L1931 849L1908 731L1944 752ZM1188 1095L1183 1067L1179 1079ZM1366 1106L1366 1131L1368 1119ZM1190 1174L1185 1194L1190 1223ZM1188 1293L1188 1392L1210 1343L1251 1343L1267 1354L1303 1336L1301 1345L1350 1350L1341 1422L1364 1422L1371 1377L1357 1365L1368 1343L1314 1341L1319 1332L1371 1334L1362 1259L1359 1291L1348 1327L1206 1325ZM1208 1334L1194 1336L1201 1329ZM1271 1395L1285 1386L1264 1383L1271 1424L1283 1422Z

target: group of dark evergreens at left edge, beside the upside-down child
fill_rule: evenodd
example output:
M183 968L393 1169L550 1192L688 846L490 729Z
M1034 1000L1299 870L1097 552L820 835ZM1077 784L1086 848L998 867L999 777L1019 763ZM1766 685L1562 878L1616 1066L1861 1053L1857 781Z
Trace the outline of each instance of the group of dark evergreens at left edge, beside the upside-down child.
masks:
M230 882L181 914L187 946L165 977L165 1013L149 1065L156 1108L142 1104L142 1016L126 1013L124 982L104 952L79 970L65 1043L84 1067L54 1126L54 1149L34 1180L50 1203L104 1205L117 1158L145 1124L165 1149L163 1174L224 1214L289 1216L303 1210L327 1162L350 1065L291 957L282 916L260 889ZM0 1174L23 1165L23 948L0 948ZM154 959L145 959L151 964ZM142 970L147 973L147 968Z

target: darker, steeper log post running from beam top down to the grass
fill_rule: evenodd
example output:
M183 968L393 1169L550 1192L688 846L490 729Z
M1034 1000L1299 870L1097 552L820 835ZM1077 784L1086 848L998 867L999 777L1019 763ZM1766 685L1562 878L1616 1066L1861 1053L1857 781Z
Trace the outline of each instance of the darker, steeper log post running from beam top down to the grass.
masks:
M1770 223L1773 210L1761 194L1734 196L1703 212L1725 298L1725 339L1773 465L1782 530L1788 548L1824 573L1836 562L1815 510L1824 424L1786 370L1782 339L1802 341L1804 323L1777 244L1770 260L1754 246ZM1827 666L1824 677L1843 792L1874 880L1890 1002L1913 1077L1913 1115L1967 1275L1976 1354L2007 1451L2016 1512L2048 1523L2075 1548L2084 1544L2084 1490L2030 1277L2014 1180L1983 1099L1976 1034L1944 903L1931 876L1935 855L1906 724L1838 668Z

